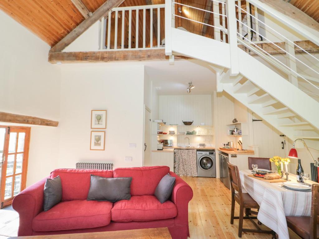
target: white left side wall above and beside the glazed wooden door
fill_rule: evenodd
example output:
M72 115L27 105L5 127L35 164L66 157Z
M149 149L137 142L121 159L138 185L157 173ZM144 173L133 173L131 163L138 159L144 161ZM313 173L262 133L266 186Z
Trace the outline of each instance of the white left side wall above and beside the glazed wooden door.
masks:
M0 11L0 111L59 120L60 70L50 47ZM31 127L27 186L56 168L58 127Z

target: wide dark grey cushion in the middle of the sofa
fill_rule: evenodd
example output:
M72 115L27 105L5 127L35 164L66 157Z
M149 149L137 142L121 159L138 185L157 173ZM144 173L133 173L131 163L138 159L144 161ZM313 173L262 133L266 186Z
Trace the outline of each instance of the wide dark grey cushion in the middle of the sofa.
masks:
M100 177L91 174L87 200L117 202L130 200L131 177Z

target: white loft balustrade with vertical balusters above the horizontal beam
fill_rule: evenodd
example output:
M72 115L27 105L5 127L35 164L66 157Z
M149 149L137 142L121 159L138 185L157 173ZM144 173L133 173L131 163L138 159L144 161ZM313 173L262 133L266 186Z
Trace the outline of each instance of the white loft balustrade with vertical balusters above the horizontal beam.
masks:
M165 35L162 27L165 24L161 26L160 20L164 7L165 4L154 4L113 8L100 20L100 50L164 48L162 41ZM146 26L147 21L149 29ZM140 40L139 33L143 34Z

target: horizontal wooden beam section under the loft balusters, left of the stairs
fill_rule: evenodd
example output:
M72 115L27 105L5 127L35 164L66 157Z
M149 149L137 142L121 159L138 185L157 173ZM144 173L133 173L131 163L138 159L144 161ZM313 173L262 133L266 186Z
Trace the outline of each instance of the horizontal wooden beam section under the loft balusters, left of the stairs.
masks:
M175 56L175 59L190 57ZM119 61L151 61L167 60L165 49L124 50L124 51L91 51L91 52L53 52L49 53L48 61L52 64L80 62L119 62Z

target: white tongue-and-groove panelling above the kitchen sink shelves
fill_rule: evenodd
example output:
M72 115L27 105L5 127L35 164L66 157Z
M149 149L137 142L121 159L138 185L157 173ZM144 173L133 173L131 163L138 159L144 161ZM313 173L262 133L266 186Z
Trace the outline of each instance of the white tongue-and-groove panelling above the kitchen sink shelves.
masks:
M185 88L186 91L186 88ZM211 95L163 95L159 96L159 120L166 124L212 125Z

